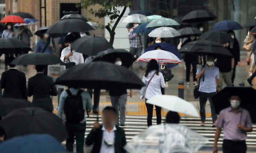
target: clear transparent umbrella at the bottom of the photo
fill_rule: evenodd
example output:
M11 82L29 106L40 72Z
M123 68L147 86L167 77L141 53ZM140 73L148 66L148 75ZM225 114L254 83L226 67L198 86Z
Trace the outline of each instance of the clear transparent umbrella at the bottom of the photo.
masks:
M207 141L184 125L162 124L139 133L124 149L129 153L195 153Z

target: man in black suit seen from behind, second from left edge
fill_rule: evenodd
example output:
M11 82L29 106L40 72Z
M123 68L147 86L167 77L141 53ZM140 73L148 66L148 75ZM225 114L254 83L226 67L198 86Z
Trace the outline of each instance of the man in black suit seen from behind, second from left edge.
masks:
M44 74L44 69L44 65L36 65L37 74L28 79L27 95L33 95L33 104L52 112L51 95L58 95L58 92L52 78Z

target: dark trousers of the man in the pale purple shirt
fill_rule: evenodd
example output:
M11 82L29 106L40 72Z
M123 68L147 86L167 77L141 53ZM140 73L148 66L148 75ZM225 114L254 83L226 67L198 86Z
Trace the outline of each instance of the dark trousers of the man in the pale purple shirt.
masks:
M223 140L223 153L246 153L247 146L244 141Z

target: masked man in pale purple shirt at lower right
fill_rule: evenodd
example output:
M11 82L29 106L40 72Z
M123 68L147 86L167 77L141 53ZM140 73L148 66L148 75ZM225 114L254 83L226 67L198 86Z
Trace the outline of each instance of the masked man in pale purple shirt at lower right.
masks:
M247 132L253 131L250 114L239 107L241 99L232 95L229 99L231 107L220 112L214 137L213 153L218 152L217 142L223 128L223 153L246 153Z

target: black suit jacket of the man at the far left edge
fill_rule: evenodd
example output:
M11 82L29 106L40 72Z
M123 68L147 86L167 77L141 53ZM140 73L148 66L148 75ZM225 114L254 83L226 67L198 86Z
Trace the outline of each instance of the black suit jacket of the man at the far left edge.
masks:
M0 86L3 97L27 99L26 75L17 69L9 69L2 73Z

